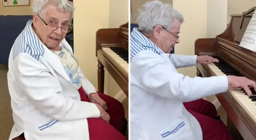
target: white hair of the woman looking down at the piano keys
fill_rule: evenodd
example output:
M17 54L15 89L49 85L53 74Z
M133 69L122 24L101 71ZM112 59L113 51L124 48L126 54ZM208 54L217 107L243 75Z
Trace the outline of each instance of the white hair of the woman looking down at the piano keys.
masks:
M138 10L138 30L148 34L152 33L157 25L170 29L174 19L179 20L181 24L184 22L183 15L171 4L155 0L145 3L142 7Z

